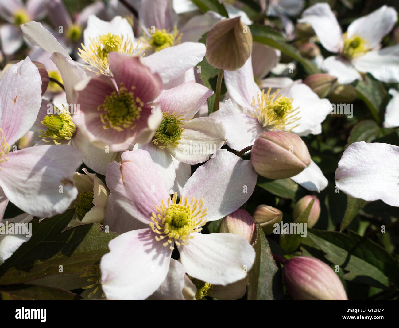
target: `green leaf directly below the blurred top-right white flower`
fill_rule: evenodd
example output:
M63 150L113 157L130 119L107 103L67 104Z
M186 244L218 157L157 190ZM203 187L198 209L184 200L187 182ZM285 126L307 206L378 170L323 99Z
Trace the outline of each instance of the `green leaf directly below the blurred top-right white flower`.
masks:
M367 73L364 80L354 82L353 86L358 97L364 101L375 121L379 123L379 115L385 109L387 98L390 97L384 85Z

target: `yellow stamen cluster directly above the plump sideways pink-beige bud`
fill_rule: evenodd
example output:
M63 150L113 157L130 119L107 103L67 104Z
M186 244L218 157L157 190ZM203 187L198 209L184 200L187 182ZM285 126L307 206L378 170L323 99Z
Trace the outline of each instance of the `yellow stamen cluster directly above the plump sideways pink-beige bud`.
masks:
M300 117L297 117L298 108L293 109L291 98L282 95L277 96L279 90L272 95L270 95L270 91L271 88L267 93L262 90L261 94L258 93L257 99L253 97L252 107L255 109L255 113L251 113L251 115L256 117L267 130L289 132L299 125L292 126L292 123L300 119ZM287 126L290 127L287 128Z

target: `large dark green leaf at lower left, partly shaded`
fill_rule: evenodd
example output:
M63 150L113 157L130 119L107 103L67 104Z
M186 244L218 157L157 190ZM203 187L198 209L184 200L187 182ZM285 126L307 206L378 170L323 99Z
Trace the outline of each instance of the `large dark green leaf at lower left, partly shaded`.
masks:
M74 211L68 209L40 223L38 218L32 220L32 237L0 266L0 285L62 273L84 273L83 267L100 261L109 252L109 241L118 234L101 231L100 223L81 225L61 233Z

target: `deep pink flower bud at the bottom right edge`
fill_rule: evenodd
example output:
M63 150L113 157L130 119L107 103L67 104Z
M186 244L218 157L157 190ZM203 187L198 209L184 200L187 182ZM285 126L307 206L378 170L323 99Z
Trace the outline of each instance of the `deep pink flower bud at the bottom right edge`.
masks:
M283 268L284 283L296 300L348 300L340 278L326 263L292 257Z

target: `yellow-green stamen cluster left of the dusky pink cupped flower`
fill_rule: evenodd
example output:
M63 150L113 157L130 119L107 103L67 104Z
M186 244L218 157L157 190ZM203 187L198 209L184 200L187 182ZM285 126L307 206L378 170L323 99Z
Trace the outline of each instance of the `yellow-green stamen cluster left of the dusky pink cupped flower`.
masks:
M45 116L41 124L47 126L47 131L40 130L42 133L40 138L45 142L53 141L55 144L61 144L58 140L71 140L76 131L71 114L66 109L61 114Z

